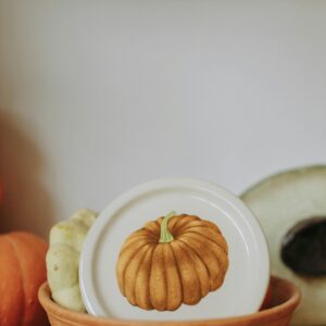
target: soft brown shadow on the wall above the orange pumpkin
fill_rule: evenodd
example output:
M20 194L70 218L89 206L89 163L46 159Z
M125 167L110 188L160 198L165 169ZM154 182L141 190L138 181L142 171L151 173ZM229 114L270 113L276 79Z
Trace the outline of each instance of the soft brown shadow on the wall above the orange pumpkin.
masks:
M40 183L45 161L18 120L0 110L0 231L25 229L48 237L53 210Z

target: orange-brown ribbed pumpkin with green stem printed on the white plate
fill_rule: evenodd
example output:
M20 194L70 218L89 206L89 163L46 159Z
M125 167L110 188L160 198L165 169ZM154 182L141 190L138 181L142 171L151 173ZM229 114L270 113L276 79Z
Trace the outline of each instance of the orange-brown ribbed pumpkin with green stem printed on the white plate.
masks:
M220 228L198 216L172 212L125 240L116 277L130 304L174 311L218 289L227 268L228 247Z

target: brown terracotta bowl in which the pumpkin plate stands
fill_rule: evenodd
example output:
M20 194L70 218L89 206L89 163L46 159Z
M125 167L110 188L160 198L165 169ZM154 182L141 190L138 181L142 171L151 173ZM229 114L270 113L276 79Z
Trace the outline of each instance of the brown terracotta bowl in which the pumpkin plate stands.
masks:
M45 308L52 326L286 326L300 302L300 291L290 281L272 277L272 300L269 306L258 313L221 319L201 319L184 322L141 322L114 318L99 318L86 313L62 308L51 299L47 283L41 285L38 298Z

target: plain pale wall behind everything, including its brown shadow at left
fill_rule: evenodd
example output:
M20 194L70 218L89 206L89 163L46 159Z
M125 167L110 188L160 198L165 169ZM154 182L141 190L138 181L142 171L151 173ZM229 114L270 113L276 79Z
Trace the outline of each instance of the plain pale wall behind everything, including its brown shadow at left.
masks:
M325 85L325 1L0 0L0 228L323 163Z

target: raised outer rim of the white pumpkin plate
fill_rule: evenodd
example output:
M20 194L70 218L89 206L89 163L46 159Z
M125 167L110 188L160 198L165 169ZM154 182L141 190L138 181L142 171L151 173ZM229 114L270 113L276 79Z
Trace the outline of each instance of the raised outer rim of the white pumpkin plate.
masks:
M189 177L167 177L167 178L158 178L152 179L147 183L142 183L138 186L135 186L130 188L129 190L121 193L115 199L113 199L105 208L101 211L98 218L95 221L92 227L89 229L85 241L83 243L83 248L80 251L79 256L79 287L82 292L82 299L84 301L84 304L86 306L86 310L88 313L95 315L95 316L106 316L108 314L105 311L101 309L101 304L90 303L90 301L93 300L97 296L95 294L95 287L90 286L91 281L86 281L85 279L90 280L91 277L91 267L87 268L87 266L91 266L91 259L92 253L95 252L95 248L97 247L97 241L93 240L92 235L98 235L102 227L108 223L108 220L110 220L112 215L115 214L121 208L123 208L128 202L133 201L137 197L143 196L147 192L151 192L159 189L164 188L171 188L171 187L184 187L184 188L192 188L192 189L199 189L204 190L205 192L216 193L220 198L223 198L228 204L230 204L233 208L235 208L239 213L246 217L247 222L250 225L250 228L253 230L255 235L255 240L259 244L259 249L261 251L261 269L263 275L260 277L260 283L256 286L258 288L262 288L261 296L258 296L260 300L258 300L256 304L252 304L252 311L256 312L266 293L268 284L269 284L269 276L271 276L271 264L269 264L269 251L267 247L267 241L264 236L263 229L258 221L258 218L254 216L254 214L250 211L250 209L244 204L244 202L234 195L233 192L226 190L224 187L216 185L211 181L197 179L197 178L189 178ZM98 300L99 301L99 300ZM111 316L112 317L112 316ZM151 321L151 319L149 319ZM154 322L159 322L155 319L152 319Z

